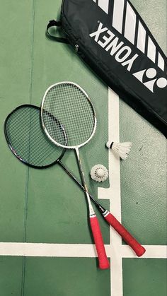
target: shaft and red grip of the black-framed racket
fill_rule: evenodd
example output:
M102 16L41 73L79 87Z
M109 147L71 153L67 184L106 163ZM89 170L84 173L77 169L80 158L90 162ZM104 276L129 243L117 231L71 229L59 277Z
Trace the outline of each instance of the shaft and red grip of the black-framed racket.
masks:
M82 186L81 183L76 179L76 177L74 177L74 175L71 174L71 172L69 172L69 170L67 170L67 168L63 165L63 163L60 161L58 163L64 169L64 171L67 172L69 177L71 177L71 179L73 179L74 182L76 182L76 184L78 184L79 187L83 191L86 192L86 189L84 188L84 186ZM110 224L119 233L119 235L122 237L122 239L124 239L125 242L127 242L127 244L129 244L129 247L132 247L132 249L137 254L137 256L142 256L142 254L144 254L144 252L146 251L144 249L144 247L142 247L142 245L139 244L139 242L137 242L137 240L134 239L134 237L132 237L132 235L130 235L130 233L126 230L126 228L110 212L108 212L107 210L105 210L105 208L100 206L100 203L98 203L98 201L96 201L96 199L94 199L93 196L89 192L88 192L88 194L89 194L91 200L96 204L96 206L98 206L100 213L103 214L103 218L105 218L105 220L108 222L108 224ZM106 213L107 213L107 215L106 215Z

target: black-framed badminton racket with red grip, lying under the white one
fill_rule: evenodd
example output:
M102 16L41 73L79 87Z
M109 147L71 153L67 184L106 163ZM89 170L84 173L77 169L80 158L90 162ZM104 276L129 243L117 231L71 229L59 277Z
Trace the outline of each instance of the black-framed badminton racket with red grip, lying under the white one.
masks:
M54 120L54 117L52 117L52 119ZM4 133L12 153L25 165L36 169L45 169L52 165L59 164L64 171L69 174L69 177L71 177L81 189L85 190L61 161L66 149L55 146L42 131L39 107L34 105L21 105L14 109L8 114L8 117L6 117ZM64 135L64 141L67 141L64 129L62 129L62 134ZM122 226L109 211L103 208L90 193L89 196L91 200L96 203L98 210L103 214L103 218L105 218L121 235L122 239L134 249L137 256L142 256L145 250L139 242L137 242L125 227Z

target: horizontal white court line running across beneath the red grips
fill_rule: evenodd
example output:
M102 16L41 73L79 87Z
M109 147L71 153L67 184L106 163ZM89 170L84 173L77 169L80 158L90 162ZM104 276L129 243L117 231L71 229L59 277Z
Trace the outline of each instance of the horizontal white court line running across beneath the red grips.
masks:
M144 246L146 253L142 258L166 259L166 246ZM113 247L105 244L107 256L116 263L119 258L138 258L127 245ZM30 256L30 257L71 257L71 258L95 258L96 247L94 244L42 244L30 242L0 242L0 256ZM114 260L115 259L115 260Z

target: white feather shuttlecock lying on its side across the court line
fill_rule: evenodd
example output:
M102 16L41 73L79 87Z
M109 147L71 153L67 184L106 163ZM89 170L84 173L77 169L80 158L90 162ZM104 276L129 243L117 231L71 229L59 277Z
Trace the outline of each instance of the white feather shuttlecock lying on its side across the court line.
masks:
M131 142L115 143L115 142L108 141L108 143L106 143L106 146L112 149L113 151L115 151L118 155L120 155L120 158L122 158L122 160L126 160L132 148L132 143Z

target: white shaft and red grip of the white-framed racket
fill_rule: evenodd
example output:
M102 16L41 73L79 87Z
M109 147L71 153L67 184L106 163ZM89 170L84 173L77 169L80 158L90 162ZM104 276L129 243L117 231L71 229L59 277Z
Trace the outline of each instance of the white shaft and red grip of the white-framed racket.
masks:
M76 158L79 165L79 171L81 174L81 179L84 185L84 191L86 193L86 199L88 201L88 210L89 210L89 218L90 218L90 225L91 225L91 231L93 234L93 239L96 245L96 250L98 253L98 261L99 261L99 268L101 269L107 269L110 267L110 263L108 261L108 257L105 253L105 247L103 242L103 237L100 230L100 225L98 223L98 218L96 217L96 213L93 210L93 206L91 205L91 199L88 194L88 190L86 187L85 177L84 177L84 171L82 169L81 160L79 158L79 149L76 148Z

